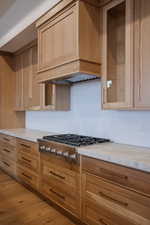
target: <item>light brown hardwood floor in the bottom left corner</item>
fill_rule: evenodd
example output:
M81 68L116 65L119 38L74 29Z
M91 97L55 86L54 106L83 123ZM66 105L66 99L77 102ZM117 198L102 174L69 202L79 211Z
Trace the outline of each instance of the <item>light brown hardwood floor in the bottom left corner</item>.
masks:
M0 225L75 225L0 170Z

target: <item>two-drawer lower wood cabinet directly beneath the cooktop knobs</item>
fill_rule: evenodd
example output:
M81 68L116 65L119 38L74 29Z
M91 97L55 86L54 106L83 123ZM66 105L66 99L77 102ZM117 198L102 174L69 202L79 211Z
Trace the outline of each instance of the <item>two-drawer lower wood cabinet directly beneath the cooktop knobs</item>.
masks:
M80 217L79 165L62 156L41 154L40 191L48 199Z

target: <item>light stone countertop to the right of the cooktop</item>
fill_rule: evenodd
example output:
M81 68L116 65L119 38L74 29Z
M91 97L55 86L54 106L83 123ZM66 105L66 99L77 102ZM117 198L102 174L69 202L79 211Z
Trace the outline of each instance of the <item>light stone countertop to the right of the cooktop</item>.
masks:
M84 156L150 172L150 148L110 142L79 147L77 150Z

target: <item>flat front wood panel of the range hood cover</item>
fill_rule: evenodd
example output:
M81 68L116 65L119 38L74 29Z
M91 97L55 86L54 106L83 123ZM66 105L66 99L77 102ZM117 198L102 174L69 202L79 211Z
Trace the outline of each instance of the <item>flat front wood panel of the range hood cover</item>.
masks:
M75 6L39 29L39 71L73 60L76 55Z

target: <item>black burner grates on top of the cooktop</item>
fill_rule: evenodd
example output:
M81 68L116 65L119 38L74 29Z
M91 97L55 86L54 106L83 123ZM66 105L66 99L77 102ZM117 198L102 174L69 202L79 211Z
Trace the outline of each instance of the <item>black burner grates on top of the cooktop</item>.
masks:
M104 139L104 138L95 138L95 137L76 135L76 134L44 136L43 139L48 141L55 141L55 142L59 142L63 144L68 144L72 146L77 146L77 147L109 142L108 139Z

